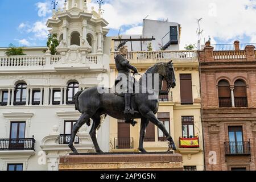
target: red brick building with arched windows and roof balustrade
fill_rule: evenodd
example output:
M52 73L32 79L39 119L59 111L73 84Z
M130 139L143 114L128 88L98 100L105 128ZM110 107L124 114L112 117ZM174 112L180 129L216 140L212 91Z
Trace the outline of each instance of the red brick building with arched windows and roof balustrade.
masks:
M205 168L255 170L256 51L199 51Z

